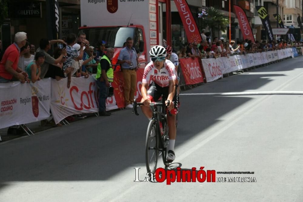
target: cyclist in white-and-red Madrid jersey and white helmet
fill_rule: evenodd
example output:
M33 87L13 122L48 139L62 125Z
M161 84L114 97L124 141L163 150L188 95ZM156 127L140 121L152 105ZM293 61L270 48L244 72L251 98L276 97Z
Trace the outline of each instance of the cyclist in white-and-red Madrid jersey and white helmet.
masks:
M151 102L156 102L163 96L166 101L169 101L168 110L172 116L167 116L169 129L169 146L166 160L171 162L175 160L175 139L176 139L176 124L175 117L178 113L178 99L176 93L176 70L174 64L165 59L166 49L163 46L156 45L149 51L151 62L144 69L142 79L142 100L144 106L141 106L142 112L149 120L152 118L152 111L149 107Z

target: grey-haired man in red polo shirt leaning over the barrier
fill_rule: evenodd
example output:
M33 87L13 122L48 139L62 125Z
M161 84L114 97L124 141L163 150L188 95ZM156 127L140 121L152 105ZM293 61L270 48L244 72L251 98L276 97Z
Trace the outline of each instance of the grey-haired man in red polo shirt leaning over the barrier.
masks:
M20 49L25 45L27 35L25 32L15 34L15 42L5 50L0 62L0 83L10 82L13 77L21 83L29 81L26 72L18 68Z

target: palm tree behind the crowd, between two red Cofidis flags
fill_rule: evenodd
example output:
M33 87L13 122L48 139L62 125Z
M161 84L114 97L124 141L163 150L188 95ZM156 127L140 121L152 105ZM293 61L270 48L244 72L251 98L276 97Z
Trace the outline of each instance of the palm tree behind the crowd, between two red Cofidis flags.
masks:
M209 7L206 9L204 25L211 29L212 39L215 37L215 31L225 32L229 25L229 19L223 15L217 8Z

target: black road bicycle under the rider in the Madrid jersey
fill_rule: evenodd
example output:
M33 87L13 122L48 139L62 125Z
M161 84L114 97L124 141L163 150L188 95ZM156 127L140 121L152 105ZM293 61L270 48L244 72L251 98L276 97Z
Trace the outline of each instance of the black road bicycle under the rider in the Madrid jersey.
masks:
M137 103L136 100L134 100L132 113L138 116L137 106L142 105L143 103ZM157 169L158 156L162 154L162 160L165 166L168 166L171 162L166 160L169 138L167 115L165 114L165 99L162 99L161 103L152 102L149 106L152 108L152 118L148 123L146 133L145 163L147 172L154 174ZM167 106L169 106L169 100ZM158 111L158 107L161 108L160 111ZM168 112L168 116L171 116L170 112Z

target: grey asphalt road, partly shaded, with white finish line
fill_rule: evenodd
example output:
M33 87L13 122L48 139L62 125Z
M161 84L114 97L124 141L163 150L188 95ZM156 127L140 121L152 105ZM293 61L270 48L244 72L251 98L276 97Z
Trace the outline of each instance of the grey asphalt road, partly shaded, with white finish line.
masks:
M168 169L250 171L216 178L256 182L134 182L134 168L146 177L148 120L122 110L1 143L0 201L303 201L302 62L182 92Z

